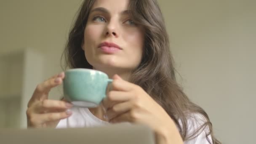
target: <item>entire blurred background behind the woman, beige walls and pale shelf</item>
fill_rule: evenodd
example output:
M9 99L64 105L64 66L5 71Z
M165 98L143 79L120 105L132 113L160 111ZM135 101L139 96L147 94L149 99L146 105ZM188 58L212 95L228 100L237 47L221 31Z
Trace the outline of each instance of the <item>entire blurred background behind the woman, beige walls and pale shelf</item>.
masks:
M179 83L208 113L224 144L256 129L256 1L158 0ZM26 128L38 83L62 71L61 54L82 0L0 0L0 128ZM50 99L59 99L54 88Z

